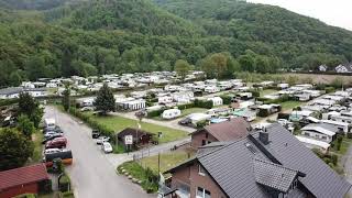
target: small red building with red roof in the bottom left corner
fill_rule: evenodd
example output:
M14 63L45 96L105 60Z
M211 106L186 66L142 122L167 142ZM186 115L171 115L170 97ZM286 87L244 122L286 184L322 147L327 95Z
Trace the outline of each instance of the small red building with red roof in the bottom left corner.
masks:
M10 198L22 194L38 194L50 177L45 164L36 164L0 172L0 197Z

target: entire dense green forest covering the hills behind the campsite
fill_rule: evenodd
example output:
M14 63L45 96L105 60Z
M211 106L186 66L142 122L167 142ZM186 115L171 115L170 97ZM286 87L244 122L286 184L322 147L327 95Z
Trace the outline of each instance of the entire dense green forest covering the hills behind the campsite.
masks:
M235 0L0 0L0 86L70 75L173 70L209 77L352 59L352 33ZM12 2L12 0L11 0Z

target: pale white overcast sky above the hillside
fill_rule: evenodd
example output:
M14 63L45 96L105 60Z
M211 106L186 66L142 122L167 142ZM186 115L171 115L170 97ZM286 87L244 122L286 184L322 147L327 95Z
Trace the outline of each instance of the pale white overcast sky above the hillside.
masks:
M279 6L352 31L352 0L248 0L248 2Z

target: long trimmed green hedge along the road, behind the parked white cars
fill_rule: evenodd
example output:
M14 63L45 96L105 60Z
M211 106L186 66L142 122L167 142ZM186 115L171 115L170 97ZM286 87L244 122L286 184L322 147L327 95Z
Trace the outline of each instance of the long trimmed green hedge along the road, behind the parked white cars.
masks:
M103 134L106 136L110 136L111 141L113 141L113 142L116 141L114 131L112 131L112 130L108 129L107 127L100 124L99 122L92 120L90 116L80 112L76 108L69 108L68 112L70 114L79 118L84 122L86 122L90 128L98 130L101 134Z

